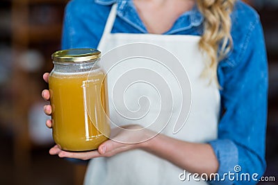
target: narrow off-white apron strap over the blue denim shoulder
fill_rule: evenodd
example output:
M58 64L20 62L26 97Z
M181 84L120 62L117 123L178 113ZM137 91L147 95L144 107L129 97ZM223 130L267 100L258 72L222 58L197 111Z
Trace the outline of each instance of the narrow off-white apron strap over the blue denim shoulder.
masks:
M99 42L98 49L102 49L102 46L104 46L104 42L105 42L104 38L107 38L107 36L111 34L111 30L113 28L116 16L117 16L117 3L113 4L113 6L111 8L111 11L109 13L109 16L108 16L108 19L106 21L106 25L104 28L104 33L102 34L101 40Z

